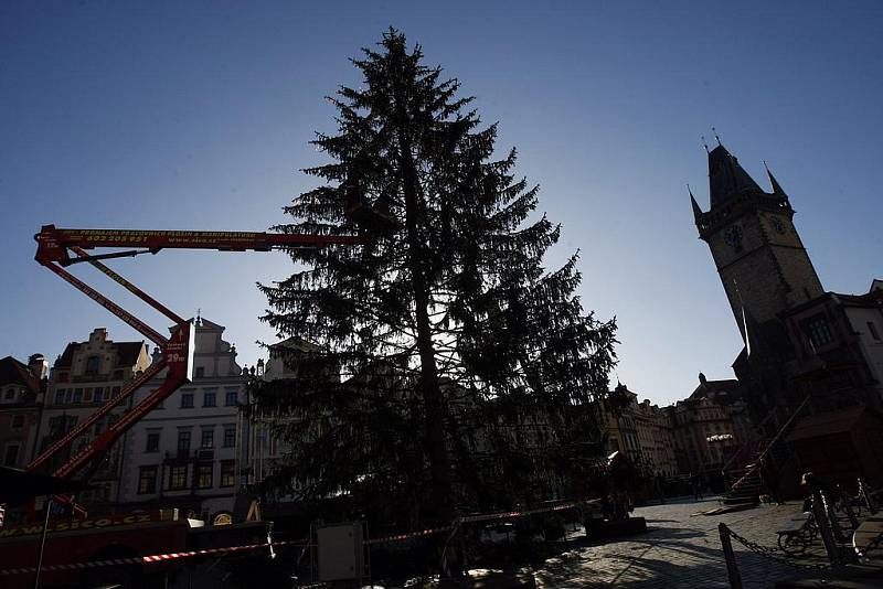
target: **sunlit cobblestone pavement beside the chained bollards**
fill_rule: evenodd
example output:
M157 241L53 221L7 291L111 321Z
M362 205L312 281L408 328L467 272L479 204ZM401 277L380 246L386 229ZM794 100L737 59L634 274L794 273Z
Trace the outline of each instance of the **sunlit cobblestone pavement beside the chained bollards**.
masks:
M651 588L727 588L730 587L719 522L757 544L775 547L776 531L791 527L801 504L763 505L722 515L693 515L712 510L716 501L669 503L635 510L632 515L647 520L648 533L606 544L571 539L563 553L546 559L532 574L536 587L638 587ZM801 571L770 561L733 542L736 563L745 589L773 587L777 580ZM804 563L823 564L822 551Z

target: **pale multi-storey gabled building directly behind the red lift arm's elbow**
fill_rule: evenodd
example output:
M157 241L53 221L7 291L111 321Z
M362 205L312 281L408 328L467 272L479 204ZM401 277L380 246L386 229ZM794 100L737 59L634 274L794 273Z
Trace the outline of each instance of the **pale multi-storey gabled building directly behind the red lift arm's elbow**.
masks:
M240 417L248 375L222 325L196 318L194 329L193 381L125 436L119 503L126 510L178 507L223 524L233 520L248 456L248 424ZM163 377L164 371L137 392L135 403Z

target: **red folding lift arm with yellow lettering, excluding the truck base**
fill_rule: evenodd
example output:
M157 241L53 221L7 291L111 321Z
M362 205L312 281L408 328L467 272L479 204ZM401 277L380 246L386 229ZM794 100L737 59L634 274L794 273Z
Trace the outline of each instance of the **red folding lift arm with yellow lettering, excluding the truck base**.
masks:
M370 212L370 211L369 211ZM375 213L371 212L375 215ZM384 223L389 223L382 218ZM252 232L189 232L189 231L128 231L128 229L67 229L44 225L34 236L38 243L35 259L54 274L95 300L98 304L120 318L124 322L142 333L159 346L161 357L147 371L129 383L119 395L107 400L85 420L78 422L70 432L49 446L26 468L35 470L45 464L53 456L68 447L78 436L88 430L98 419L119 406L138 388L167 370L160 386L138 403L131 410L110 425L100 436L93 439L84 448L71 457L55 470L60 478L71 476L85 467L103 450L113 445L135 422L150 413L174 393L182 384L192 379L193 370L193 325L166 306L143 292L141 289L102 264L103 259L131 257L140 254L156 254L161 249L215 249L221 251L269 251L270 249L296 247L321 247L330 245L352 246L365 244L370 239L352 235L304 235L274 234ZM137 248L106 254L89 254L94 248ZM174 328L170 338L163 336L145 322L93 289L65 267L76 263L88 263L106 276L121 285L147 304L164 314Z

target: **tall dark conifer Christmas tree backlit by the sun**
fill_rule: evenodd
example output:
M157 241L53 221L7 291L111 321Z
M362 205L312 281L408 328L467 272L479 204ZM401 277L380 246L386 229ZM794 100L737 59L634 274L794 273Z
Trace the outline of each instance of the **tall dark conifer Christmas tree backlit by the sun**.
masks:
M379 47L353 60L363 85L330 98L338 132L313 143L331 161L306 170L322 185L276 229L401 226L294 249L306 269L260 287L263 320L309 342L294 379L252 386L251 410L289 448L263 490L343 495L397 525L566 493L597 450L588 407L607 390L615 324L584 313L575 255L544 270L560 227L529 221L538 188L514 176L514 149L494 159L497 126L459 82L395 30Z

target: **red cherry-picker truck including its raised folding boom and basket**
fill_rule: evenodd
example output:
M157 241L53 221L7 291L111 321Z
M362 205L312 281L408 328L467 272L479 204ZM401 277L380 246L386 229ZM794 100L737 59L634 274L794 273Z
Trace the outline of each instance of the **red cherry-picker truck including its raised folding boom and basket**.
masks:
M353 202L348 202L348 214L360 227L368 227L372 232L391 232L398 227L395 219L385 212L375 212L361 201L351 199L349 192L352 191L348 191L348 197ZM161 354L158 362L123 388L118 396L111 397L95 413L76 424L70 432L50 445L26 470L45 468L53 456L88 431L98 419L127 400L161 371L168 370L155 392L123 414L118 421L54 471L53 474L61 479L79 472L135 422L192 378L192 324L105 266L102 260L157 254L169 248L269 251L294 247L353 246L370 240L357 235L71 229L54 225L44 225L34 238L38 243L38 263L142 333L159 346ZM91 253L97 248L128 249ZM174 323L171 336L163 336L65 269L79 263L97 268L169 318ZM65 503L68 500L56 496L54 501ZM240 550L258 550L266 555L273 549L268 526L263 522L234 524L223 526L223 529L220 526L202 527L198 522L181 517L177 510L121 513L93 518L86 517L85 512L79 512L74 516L52 520L49 517L49 505L46 507L45 520L39 523L0 527L0 586L9 589L33 587L35 575L45 585L85 582L87 586L98 586L114 581L129 586L141 582L137 579L146 578L143 574L149 576L155 571L163 572L171 566L180 567L180 563L190 558ZM163 578L167 586L168 580L168 577Z

